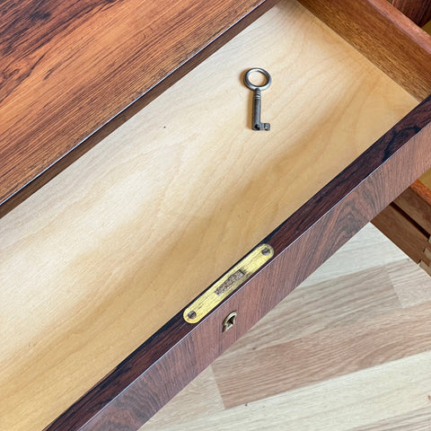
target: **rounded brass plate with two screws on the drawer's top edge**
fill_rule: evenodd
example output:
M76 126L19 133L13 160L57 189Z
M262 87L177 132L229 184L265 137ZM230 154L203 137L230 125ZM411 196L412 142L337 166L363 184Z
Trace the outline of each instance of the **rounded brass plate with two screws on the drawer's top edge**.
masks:
M274 249L270 245L261 244L256 247L184 310L184 320L189 323L201 321L208 312L211 312L226 296L232 294L273 256Z

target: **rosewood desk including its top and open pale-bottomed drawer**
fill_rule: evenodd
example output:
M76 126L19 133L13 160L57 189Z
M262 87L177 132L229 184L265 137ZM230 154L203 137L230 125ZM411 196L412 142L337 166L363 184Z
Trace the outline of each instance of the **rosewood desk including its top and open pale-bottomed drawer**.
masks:
M0 6L1 429L138 429L431 166L402 4L275 3Z

